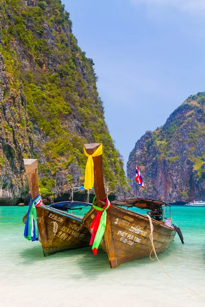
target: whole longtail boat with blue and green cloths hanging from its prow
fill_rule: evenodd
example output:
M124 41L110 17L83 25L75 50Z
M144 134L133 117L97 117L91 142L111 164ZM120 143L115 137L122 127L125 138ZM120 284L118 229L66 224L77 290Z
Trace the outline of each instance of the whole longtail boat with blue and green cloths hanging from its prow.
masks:
M82 217L69 214L63 210L45 206L39 196L38 188L38 169L36 159L24 159L24 165L26 168L26 174L28 184L30 188L31 204L28 214L23 218L23 221L29 224L28 216L36 212L37 218L34 216L32 225L34 230L28 230L25 237L29 240L38 240L42 244L44 256L55 254L70 249L76 249L86 247L90 242L90 233L86 227L82 224ZM38 200L38 201L36 201ZM89 205L85 203L80 205ZM76 202L72 204L70 202L70 208L72 209L76 205ZM31 213L30 210L35 210ZM38 230L38 231L37 231ZM34 233L32 233L32 231ZM34 238L33 238L34 236Z

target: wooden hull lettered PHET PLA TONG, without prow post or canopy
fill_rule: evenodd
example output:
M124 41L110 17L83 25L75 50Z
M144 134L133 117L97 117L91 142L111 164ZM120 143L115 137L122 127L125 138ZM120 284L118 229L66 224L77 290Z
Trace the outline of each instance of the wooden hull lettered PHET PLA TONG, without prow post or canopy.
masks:
M94 209L83 218L83 224L89 229L96 215ZM174 240L176 231L172 227L152 220L153 239L157 254L167 250ZM108 254L111 268L124 262L148 257L152 250L150 240L150 222L145 215L117 206L107 211L107 224L100 247Z

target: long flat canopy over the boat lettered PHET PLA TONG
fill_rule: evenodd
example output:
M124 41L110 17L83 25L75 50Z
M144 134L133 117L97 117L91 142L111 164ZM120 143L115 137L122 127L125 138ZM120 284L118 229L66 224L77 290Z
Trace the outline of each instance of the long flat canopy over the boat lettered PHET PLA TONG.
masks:
M129 198L129 199L122 199L118 201L112 202L113 205L116 206L124 206L124 207L137 207L141 209L153 209L154 207L158 206L170 206L168 203L148 198Z

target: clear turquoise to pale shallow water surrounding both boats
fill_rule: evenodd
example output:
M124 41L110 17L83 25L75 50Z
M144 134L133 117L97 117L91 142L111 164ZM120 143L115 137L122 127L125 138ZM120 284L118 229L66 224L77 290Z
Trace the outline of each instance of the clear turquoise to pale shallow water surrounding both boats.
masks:
M89 247L44 258L40 243L23 236L27 209L0 207L2 307L205 305L156 260L144 258L111 270L107 255L99 250L94 256ZM185 244L176 235L159 260L172 277L205 297L205 207L172 206L172 217Z

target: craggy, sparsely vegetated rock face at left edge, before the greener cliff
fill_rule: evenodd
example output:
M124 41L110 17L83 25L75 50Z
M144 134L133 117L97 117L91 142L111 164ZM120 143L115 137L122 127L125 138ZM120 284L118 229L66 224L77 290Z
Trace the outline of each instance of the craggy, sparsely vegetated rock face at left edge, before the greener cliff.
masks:
M31 157L33 150L32 130L25 110L22 87L16 91L0 54L0 205L24 199L23 158Z

